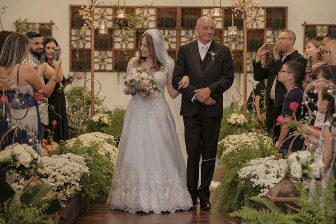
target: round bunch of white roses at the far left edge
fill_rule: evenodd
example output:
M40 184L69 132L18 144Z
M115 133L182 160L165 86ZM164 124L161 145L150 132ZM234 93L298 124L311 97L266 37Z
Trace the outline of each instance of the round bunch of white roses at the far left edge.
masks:
M36 167L43 168L40 157L27 144L14 143L0 151L0 169L5 172L32 175Z

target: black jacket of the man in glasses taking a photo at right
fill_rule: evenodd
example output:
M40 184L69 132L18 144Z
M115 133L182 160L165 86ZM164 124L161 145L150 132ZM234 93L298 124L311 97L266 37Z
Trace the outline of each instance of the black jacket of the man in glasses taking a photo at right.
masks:
M287 61L297 61L299 62L303 68L304 71L306 71L307 66L307 60L299 54L297 50L295 50L293 53L289 54L285 59L284 62L282 62L282 57L279 60L271 59L265 67L262 67L261 61L256 63L256 61L253 61L253 77L256 81L260 81L263 79L267 79L267 87L266 87L266 106L269 105L269 99L270 99L270 93L272 89L272 85L274 82L274 79L277 77L279 70L282 68L283 64ZM302 74L305 75L305 74ZM299 84L301 85L301 83ZM279 82L278 80L275 83L275 106L283 106L284 105L284 93L286 92L286 88L284 87L284 84L282 82Z

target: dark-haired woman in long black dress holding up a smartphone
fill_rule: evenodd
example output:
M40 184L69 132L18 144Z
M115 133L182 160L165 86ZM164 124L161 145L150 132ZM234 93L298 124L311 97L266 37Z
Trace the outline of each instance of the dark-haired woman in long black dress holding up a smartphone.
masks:
M47 65L47 71L45 71L43 75L44 75L44 81L45 83L47 83L50 80L51 75L55 71L52 61L53 59L59 60L58 58L61 55L61 50L58 46L57 41L52 37L47 37L43 43L43 46L44 46L43 53L46 54L45 64ZM57 83L55 89L53 90L52 95L50 95L50 97L48 98L48 103L54 107L54 111L52 111L50 107L48 108L49 124L47 128L52 130L52 121L57 122L52 136L54 142L69 139L65 95L62 88L64 82L65 78L63 75L63 69L61 67L57 75Z

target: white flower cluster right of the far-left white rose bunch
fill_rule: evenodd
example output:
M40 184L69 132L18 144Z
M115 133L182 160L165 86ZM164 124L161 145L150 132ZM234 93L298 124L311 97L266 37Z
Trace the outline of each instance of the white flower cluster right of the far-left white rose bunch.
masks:
M82 190L80 180L83 176L90 174L87 163L91 158L84 154L74 155L72 153L62 155L45 156L41 158L43 169L37 169L37 174L45 183L64 185L66 189L58 188L57 198L64 201L71 199ZM13 187L21 189L26 181L22 176L15 176Z

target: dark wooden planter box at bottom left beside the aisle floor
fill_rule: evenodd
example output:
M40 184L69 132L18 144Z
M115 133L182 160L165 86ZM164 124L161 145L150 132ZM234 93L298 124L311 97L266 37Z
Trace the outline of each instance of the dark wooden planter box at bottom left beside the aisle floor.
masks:
M59 216L63 216L65 221L59 221L59 224L75 224L79 216L85 211L85 205L82 203L81 195L78 194L75 198L63 203L66 207L61 211L52 214L52 220Z

